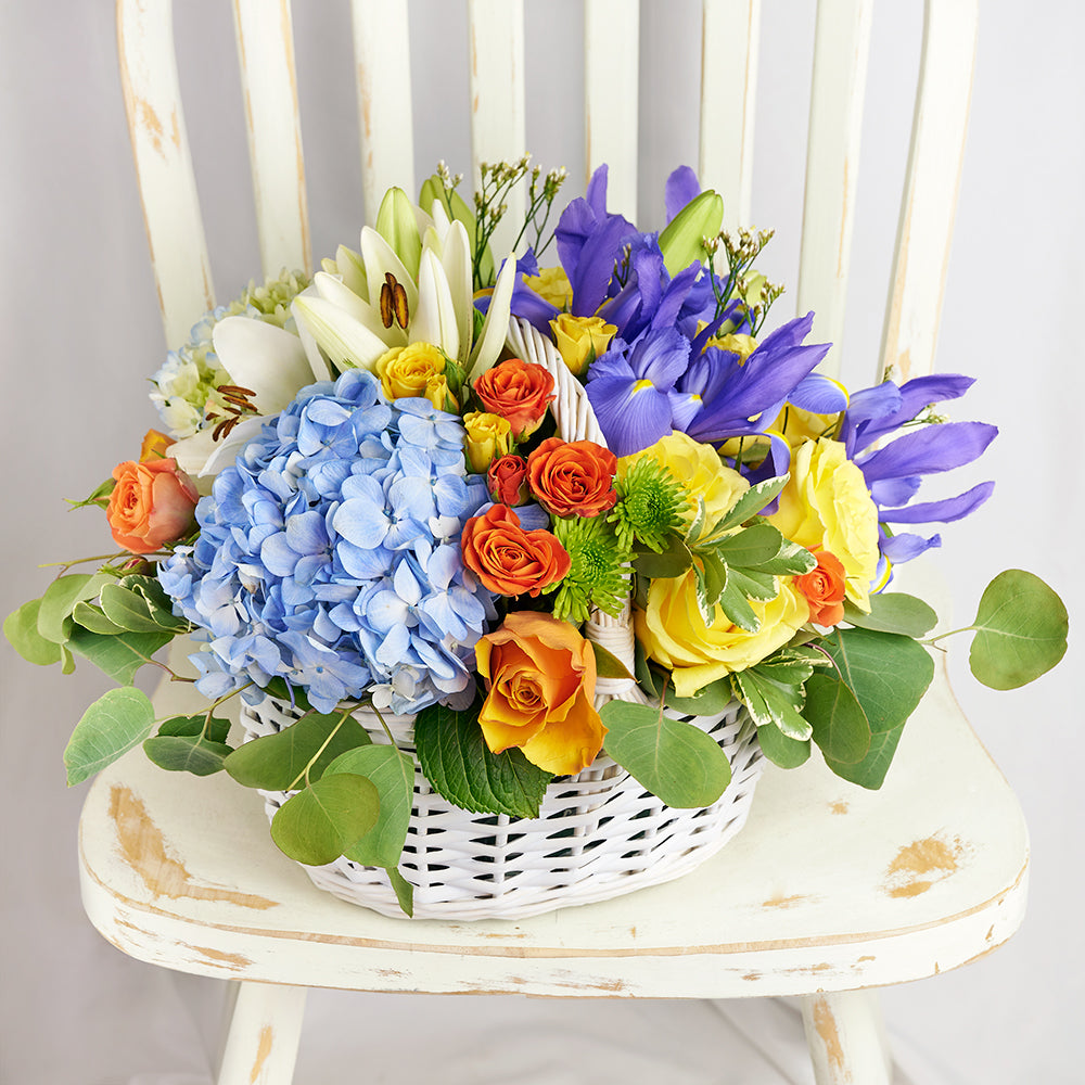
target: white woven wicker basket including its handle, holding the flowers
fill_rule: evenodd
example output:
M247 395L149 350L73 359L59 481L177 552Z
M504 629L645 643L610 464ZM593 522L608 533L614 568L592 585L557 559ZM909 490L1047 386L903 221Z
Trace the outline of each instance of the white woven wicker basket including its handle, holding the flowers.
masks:
M605 444L584 387L557 350L529 324L513 319L512 354L544 366L554 378L553 414L564 441ZM634 636L628 605L612 617L592 614L584 634L633 671ZM612 698L644 702L628 679L600 678L596 705ZM366 710L357 718L374 742L387 742ZM711 735L731 764L720 799L700 809L672 809L605 753L575 777L551 782L538 818L471 814L433 792L417 767L414 803L400 870L414 886L416 918L521 919L554 908L590 904L669 881L719 851L745 824L761 775L757 732L737 702L716 716L684 716ZM242 711L245 738L259 738L297 718L289 703L265 698ZM413 754L413 717L384 715L396 744ZM265 792L268 817L289 797ZM305 867L320 889L386 916L400 916L396 895L380 868L340 857Z

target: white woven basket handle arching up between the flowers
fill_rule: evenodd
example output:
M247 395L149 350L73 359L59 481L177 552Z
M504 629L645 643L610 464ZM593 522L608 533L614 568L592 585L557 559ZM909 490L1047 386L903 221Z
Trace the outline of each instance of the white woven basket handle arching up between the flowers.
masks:
M558 348L521 317L513 317L509 321L506 342L518 358L523 361L534 361L553 378L554 399L550 405L550 411L558 424L558 436L562 441L593 441L605 448L607 438L596 420L596 413L588 401L588 394L562 360ZM623 666L633 674L633 608L628 600L616 616L592 610L584 625L584 635L621 660ZM629 678L597 679L596 707L615 698L641 704L648 703L648 698L640 687Z

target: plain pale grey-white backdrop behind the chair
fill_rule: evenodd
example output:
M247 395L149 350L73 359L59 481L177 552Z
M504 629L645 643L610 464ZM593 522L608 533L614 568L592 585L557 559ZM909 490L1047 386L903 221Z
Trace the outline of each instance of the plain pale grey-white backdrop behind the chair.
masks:
M226 0L178 3L193 137L219 295L257 267L243 113ZM345 4L296 0L312 237L318 254L360 226L360 184ZM641 4L641 222L658 226L662 183L695 164L699 4ZM775 226L765 270L795 282L813 0L765 0L755 221ZM878 5L873 28L845 372L867 381L880 331L895 205L910 120L918 0ZM940 368L981 376L957 418L996 422L981 477L999 480L972 520L948 527L942 561L959 615L994 573L1044 575L1082 612L1083 388L1077 316L1085 291L1081 178L1085 10L984 0L972 126L949 266ZM68 513L155 418L143 379L163 357L105 0L0 0L0 252L8 303L0 336L0 462L7 465L0 610L39 595L41 561L112 549L93 511ZM412 0L420 174L468 162L467 29L460 4ZM579 4L527 0L528 146L583 187ZM447 54L447 58L446 58ZM564 60L573 73L566 76ZM725 58L719 63L726 63ZM623 92L623 88L616 88ZM787 298L779 303L781 307ZM782 319L782 317L781 317ZM858 375L861 374L861 378ZM963 486L961 486L963 488ZM968 613L966 613L968 612ZM955 669L960 672L958 650ZM1061 669L1008 694L957 687L981 738L1021 797L1033 840L1030 911L997 953L955 973L889 991L884 1006L909 1068L899 1081L1048 1085L1082 1080L1083 890L1076 835L1080 725L1071 641ZM131 961L89 927L78 902L75 827L61 753L106 687L80 666L24 664L0 643L0 1081L11 1085L200 1085L218 987ZM932 751L932 757L937 756ZM662 1016L650 1017L649 1011ZM446 1082L782 1083L807 1081L800 1030L780 1004L580 1007L516 999L310 998L299 1082L333 1078L330 1054L356 1045L366 1075L431 1072ZM662 1027L653 1022L662 1022ZM735 1027L735 1025L739 1027ZM751 1045L739 1029L753 1037ZM365 1037L381 1041L369 1050ZM448 1056L419 1050L418 1037ZM388 1042L392 1042L391 1044ZM653 1047L662 1044L655 1054ZM758 1054L770 1048L773 1054ZM472 1054L473 1052L473 1054Z

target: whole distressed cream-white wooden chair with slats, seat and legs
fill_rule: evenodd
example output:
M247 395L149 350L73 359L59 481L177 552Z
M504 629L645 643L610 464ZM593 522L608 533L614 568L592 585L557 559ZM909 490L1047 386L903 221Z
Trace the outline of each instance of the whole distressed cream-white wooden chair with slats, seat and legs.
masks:
M414 189L403 81L405 0L355 0L367 213ZM840 341L872 0L818 5L799 309ZM275 17L269 17L273 9ZM702 183L749 209L756 0L703 0ZM923 59L880 366L931 367L967 122L976 0L927 0ZM235 0L264 267L310 266L289 0ZM635 100L607 93L637 55L637 4L585 0L588 163L612 206L636 205ZM281 15L281 17L280 17ZM167 341L214 303L177 88L169 0L118 0L120 66ZM524 150L522 0L470 0L475 162ZM379 36L375 33L379 24ZM378 44L379 42L379 44ZM705 55L712 49L705 49ZM628 79L625 79L628 85ZM731 107L741 103L742 108ZM932 103L936 103L936 110ZM291 123L290 118L294 122ZM409 130L409 127L408 127ZM354 228L356 224L344 224ZM875 374L871 374L875 375ZM164 688L159 714L190 697ZM936 732L936 739L935 739ZM939 756L924 752L936 741ZM268 838L263 808L222 778L162 773L140 751L103 773L80 825L84 904L139 959L240 980L221 1085L293 1074L306 988L563 997L801 995L819 1083L891 1080L866 988L932 975L1008 939L1025 902L1020 808L944 675L909 723L885 787L819 764L771 767L745 829L678 882L519 922L386 919L319 892ZM228 831L224 827L228 826Z

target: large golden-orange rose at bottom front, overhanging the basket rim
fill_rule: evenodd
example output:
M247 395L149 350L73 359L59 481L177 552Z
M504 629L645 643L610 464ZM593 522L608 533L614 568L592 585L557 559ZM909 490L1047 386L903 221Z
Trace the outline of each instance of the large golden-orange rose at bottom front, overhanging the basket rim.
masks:
M489 691L478 723L494 753L518 746L557 776L595 761L607 733L592 704L596 656L572 625L514 611L478 640L475 659Z

